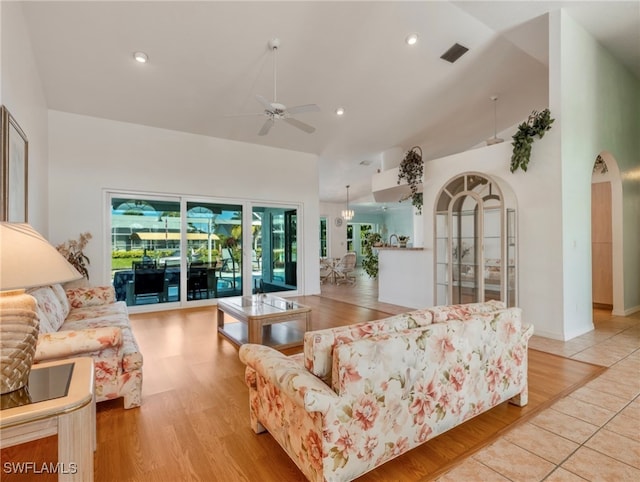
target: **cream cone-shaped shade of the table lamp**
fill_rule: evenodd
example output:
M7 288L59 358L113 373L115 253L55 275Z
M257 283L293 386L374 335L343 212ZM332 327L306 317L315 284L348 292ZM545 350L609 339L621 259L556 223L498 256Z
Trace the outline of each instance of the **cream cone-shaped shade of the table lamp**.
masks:
M0 223L0 291L80 278L78 270L29 224Z

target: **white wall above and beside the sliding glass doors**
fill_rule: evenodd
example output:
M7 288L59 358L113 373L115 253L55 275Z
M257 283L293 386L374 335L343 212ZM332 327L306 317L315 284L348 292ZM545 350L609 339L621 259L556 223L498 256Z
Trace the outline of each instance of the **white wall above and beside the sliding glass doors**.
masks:
M320 291L316 156L58 111L49 130L51 238L93 234L93 283L109 282L105 191L124 190L301 203L299 289Z

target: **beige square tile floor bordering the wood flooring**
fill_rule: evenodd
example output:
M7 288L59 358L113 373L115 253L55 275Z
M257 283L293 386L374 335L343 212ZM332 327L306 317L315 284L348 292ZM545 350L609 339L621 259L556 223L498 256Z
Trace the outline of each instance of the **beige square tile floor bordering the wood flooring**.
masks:
M388 313L377 283L322 286L322 296ZM533 336L529 346L609 367L528 422L470 456L437 482L622 482L640 480L640 312L594 311L595 329L567 342Z

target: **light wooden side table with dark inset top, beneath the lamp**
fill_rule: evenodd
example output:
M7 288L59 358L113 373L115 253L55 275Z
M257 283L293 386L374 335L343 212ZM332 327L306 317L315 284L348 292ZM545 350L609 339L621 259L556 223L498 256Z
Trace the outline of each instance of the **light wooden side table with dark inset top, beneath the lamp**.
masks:
M15 392L2 395L0 448L58 434L58 462L49 465L55 467L58 480L93 481L96 449L93 359L69 358L33 365L25 404L12 406L10 395ZM39 464L25 462L13 468L5 463L2 470L23 470L25 475L42 473Z

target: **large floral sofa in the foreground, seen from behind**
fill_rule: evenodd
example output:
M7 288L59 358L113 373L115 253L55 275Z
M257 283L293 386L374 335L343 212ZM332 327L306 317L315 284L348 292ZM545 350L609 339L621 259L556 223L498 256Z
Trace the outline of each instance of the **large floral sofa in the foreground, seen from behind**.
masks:
M240 347L251 427L310 481L348 481L510 400L527 404L533 327L502 302L311 331L304 354Z

